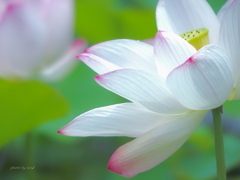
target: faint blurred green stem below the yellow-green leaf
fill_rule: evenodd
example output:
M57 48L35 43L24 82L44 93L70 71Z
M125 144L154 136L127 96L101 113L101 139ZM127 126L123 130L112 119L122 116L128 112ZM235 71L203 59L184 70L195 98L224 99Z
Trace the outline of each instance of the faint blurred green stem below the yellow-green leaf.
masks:
M33 133L28 132L25 135L25 172L28 180L35 180L34 166L34 154L33 154Z

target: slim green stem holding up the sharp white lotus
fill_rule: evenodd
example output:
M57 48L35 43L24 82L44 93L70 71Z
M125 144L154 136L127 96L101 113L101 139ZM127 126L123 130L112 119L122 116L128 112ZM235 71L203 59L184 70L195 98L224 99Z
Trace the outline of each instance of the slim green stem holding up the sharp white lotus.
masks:
M221 112L219 108L212 110L212 116L213 116L214 134L215 134L215 153L216 153L218 180L226 180L223 130L222 130Z

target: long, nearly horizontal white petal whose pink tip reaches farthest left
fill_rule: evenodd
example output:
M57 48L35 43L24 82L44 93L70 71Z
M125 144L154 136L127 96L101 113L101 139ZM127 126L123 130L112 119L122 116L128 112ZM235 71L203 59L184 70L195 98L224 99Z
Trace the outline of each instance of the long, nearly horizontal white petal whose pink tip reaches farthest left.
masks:
M76 117L58 133L67 136L130 136L137 137L158 126L159 115L134 103L96 108Z

